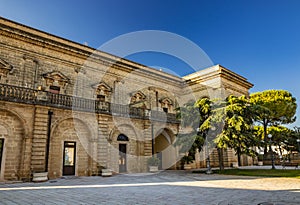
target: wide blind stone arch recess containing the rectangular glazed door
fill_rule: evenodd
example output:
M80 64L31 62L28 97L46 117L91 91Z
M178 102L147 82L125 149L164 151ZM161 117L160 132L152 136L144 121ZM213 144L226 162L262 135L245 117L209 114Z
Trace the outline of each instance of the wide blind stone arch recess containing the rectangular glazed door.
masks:
M57 122L51 133L49 178L90 175L90 139L90 129L80 119L66 118Z

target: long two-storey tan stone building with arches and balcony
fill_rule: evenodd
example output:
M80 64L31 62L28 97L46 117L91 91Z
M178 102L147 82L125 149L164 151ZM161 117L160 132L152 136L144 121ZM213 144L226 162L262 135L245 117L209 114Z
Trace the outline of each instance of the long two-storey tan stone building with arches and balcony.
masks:
M175 168L175 108L251 87L220 65L180 78L0 18L0 180L146 172L152 154Z

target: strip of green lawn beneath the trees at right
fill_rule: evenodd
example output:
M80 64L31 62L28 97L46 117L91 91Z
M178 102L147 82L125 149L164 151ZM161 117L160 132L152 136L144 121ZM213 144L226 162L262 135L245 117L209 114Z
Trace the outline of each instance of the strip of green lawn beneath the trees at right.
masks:
M216 174L261 176L261 177L292 177L300 179L300 170L289 169L225 169L215 170Z

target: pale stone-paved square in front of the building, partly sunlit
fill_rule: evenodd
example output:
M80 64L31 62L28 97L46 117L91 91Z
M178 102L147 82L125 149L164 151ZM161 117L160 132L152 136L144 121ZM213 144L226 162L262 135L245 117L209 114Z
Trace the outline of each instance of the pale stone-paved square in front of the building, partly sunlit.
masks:
M0 184L0 204L298 205L300 180L164 171Z

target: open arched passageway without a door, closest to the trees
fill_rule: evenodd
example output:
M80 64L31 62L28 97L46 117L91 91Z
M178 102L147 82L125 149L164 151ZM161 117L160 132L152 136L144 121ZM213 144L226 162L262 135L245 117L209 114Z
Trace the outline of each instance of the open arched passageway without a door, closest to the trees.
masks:
M159 169L169 169L176 163L176 149L172 145L175 140L173 132L161 129L154 140L154 153L160 159Z

